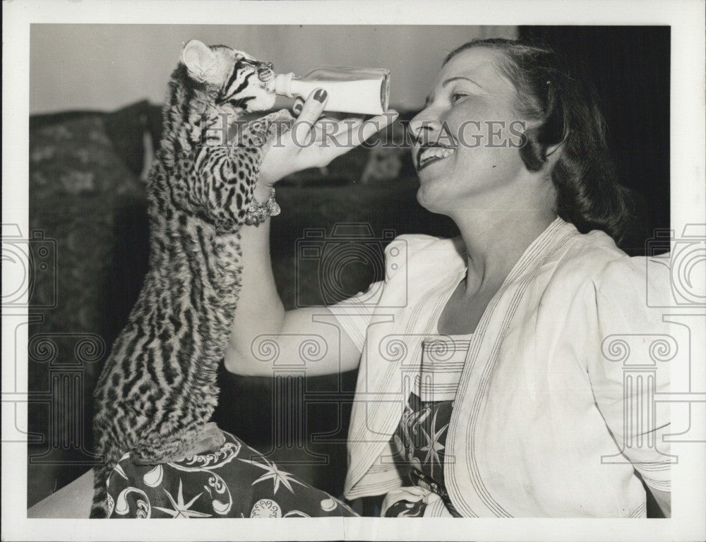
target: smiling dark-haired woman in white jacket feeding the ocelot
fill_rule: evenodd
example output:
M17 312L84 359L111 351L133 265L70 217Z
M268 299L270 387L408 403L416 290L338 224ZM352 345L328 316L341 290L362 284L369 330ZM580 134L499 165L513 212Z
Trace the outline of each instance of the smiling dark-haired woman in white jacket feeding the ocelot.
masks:
M324 105L312 95L299 120ZM474 41L447 57L409 128L419 203L460 237L401 236L384 282L285 311L269 219L244 228L229 371L271 374L256 354L265 335L294 360L320 337L326 353L308 374L359 368L345 496L385 495L386 515L641 517L640 478L669 514L669 422L658 410L647 427L624 423L644 394L624 387L610 355L614 335L666 331L646 308L644 265L611 239L628 206L593 97L548 49ZM258 201L345 152L290 139L265 156Z

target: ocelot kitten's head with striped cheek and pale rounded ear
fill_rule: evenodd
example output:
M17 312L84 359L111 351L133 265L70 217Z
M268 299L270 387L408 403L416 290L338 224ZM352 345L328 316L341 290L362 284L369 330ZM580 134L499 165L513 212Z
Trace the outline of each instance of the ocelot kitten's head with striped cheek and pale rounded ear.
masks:
M191 40L181 52L189 78L203 84L215 104L263 111L275 104L275 74L270 62L225 45Z

